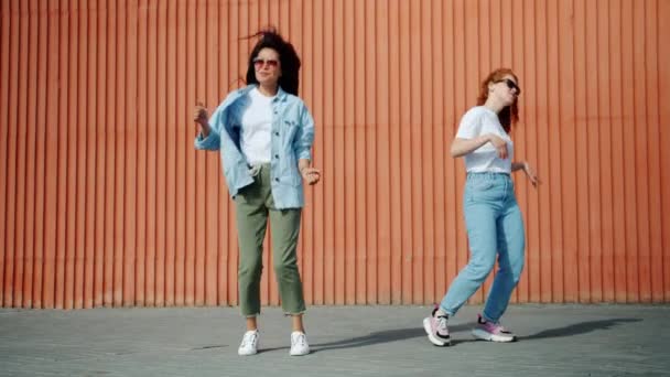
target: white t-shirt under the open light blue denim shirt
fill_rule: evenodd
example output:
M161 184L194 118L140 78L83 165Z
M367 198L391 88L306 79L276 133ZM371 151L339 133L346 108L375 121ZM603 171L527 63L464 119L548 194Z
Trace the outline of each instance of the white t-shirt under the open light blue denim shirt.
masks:
M249 91L249 105L241 116L240 147L250 164L268 163L272 159L272 100L258 88Z

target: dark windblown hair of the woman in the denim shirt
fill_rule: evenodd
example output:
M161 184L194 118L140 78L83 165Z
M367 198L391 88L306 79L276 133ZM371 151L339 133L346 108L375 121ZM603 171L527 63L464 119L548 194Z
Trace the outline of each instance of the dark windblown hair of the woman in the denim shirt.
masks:
M251 39L257 36L260 36L260 40L258 40L249 55L247 84L258 84L258 80L256 79L256 69L253 68L253 60L258 56L258 53L263 49L272 49L279 54L281 65L279 86L282 90L298 96L298 87L300 85L300 57L293 45L285 41L272 26L263 29L248 37Z

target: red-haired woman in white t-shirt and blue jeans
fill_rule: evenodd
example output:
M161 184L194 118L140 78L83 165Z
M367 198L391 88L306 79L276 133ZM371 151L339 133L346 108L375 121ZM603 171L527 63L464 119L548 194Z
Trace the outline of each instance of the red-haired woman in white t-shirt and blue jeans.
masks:
M473 335L490 342L516 340L499 322L521 276L526 248L523 220L510 173L522 170L533 186L539 183L528 162L512 162L509 131L519 119L520 94L519 79L511 69L491 72L482 83L478 106L463 116L452 142L452 157L465 157L463 208L471 258L440 305L423 320L429 341L434 345L451 344L447 320L479 289L496 257L499 270Z

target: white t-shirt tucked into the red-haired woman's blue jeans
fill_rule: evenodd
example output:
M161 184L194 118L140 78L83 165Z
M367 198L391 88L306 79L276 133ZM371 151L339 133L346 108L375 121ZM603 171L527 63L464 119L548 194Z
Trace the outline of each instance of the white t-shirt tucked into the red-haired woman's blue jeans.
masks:
M468 173L511 173L514 143L500 125L498 115L484 106L473 107L461 119L456 138L473 139L485 133L496 134L507 141L507 159L498 158L496 148L487 142L465 154L465 170Z

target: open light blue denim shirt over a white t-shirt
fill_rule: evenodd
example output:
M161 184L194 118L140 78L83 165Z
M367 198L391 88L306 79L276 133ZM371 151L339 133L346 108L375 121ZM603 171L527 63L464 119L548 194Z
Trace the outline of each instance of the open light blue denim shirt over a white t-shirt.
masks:
M233 198L253 183L247 159L240 149L241 114L245 97L255 87L249 85L231 91L209 118L207 138L198 134L195 149L220 150L224 176ZM272 134L270 175L272 198L278 209L301 208L304 205L302 176L298 160L311 160L314 141L314 120L306 106L296 96L279 88L272 100Z

